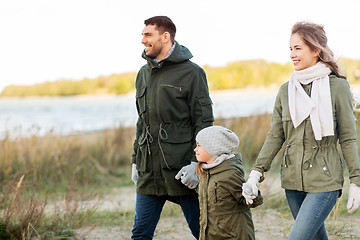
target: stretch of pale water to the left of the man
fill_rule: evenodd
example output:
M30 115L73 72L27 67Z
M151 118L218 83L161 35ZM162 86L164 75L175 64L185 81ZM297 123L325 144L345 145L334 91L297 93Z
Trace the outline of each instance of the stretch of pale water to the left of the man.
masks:
M129 126L136 122L135 97L0 98L0 137L67 135Z

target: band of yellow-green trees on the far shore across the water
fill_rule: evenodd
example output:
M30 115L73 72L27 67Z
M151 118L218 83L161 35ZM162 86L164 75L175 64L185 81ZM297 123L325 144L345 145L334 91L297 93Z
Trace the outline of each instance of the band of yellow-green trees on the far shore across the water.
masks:
M360 84L360 60L340 59L339 64L351 84ZM280 86L294 71L293 65L265 60L237 61L225 67L205 66L211 90L236 89L248 86ZM10 85L1 97L72 96L89 94L125 94L135 90L136 73L112 74L80 81L58 80L31 86Z

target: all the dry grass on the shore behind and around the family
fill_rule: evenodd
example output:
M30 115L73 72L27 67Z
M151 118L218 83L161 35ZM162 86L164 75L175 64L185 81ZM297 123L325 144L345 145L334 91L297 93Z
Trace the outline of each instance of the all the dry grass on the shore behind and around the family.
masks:
M238 152L250 167L265 141L270 119L271 115L265 114L217 119L215 124L230 128L239 136ZM66 137L50 132L43 137L33 134L0 140L0 239L82 239L73 229L87 226L87 231L91 231L94 224L111 224L113 213L105 213L99 222L95 218L101 214L95 213L95 207L83 208L82 202L104 188L132 183L130 157L134 138L134 127L120 127ZM276 211L286 219L284 198L270 194L267 199L261 207L264 209L259 208L263 211L260 216ZM347 216L345 199L347 195L330 216L334 224L330 224L333 227L329 231L334 235L340 236L348 229L335 224ZM164 218L178 215L177 210L173 211L165 211ZM133 218L130 215L116 216L129 223L128 218Z

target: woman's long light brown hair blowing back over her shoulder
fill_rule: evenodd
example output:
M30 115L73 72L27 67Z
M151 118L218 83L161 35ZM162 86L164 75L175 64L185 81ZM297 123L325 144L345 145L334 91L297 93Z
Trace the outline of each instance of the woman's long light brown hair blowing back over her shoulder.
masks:
M295 33L300 35L311 50L319 52L319 61L325 63L337 77L345 78L345 76L340 73L339 66L334 58L334 53L327 44L324 26L301 21L295 23L292 27L291 35Z

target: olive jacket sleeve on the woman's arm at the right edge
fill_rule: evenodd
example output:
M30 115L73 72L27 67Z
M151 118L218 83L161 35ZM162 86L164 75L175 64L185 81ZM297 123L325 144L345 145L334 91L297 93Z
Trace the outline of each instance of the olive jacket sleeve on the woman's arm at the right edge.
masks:
M339 81L336 94L335 111L341 151L349 168L350 183L360 186L360 161L356 143L353 97L346 80Z

